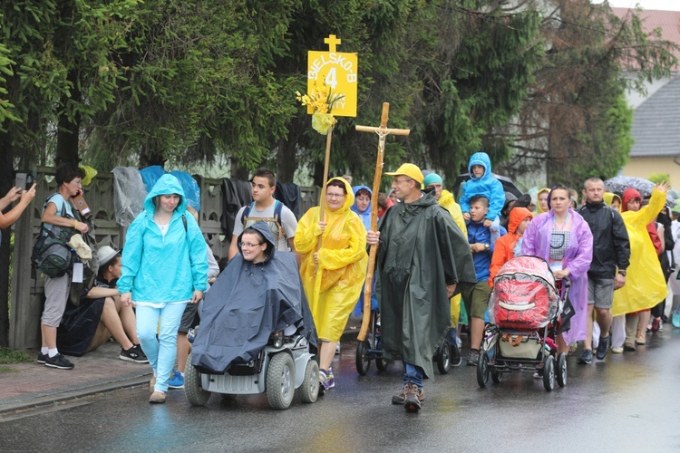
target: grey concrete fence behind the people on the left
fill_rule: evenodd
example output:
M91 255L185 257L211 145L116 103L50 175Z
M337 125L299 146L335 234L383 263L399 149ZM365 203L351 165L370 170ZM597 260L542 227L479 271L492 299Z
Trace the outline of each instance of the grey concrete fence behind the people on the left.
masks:
M29 257L40 231L43 201L57 190L53 168L40 167L35 182L36 194L29 210L15 223L15 249L12 261L12 300L10 301L9 346L24 351L40 346L40 316L44 307L41 275L32 272ZM199 226L215 255L226 256L231 237L221 229L222 180L195 176L200 188ZM316 206L319 188L301 188L301 213ZM98 246L119 248L124 244L125 228L115 221L113 208L113 175L100 173L84 188L84 196L92 209Z

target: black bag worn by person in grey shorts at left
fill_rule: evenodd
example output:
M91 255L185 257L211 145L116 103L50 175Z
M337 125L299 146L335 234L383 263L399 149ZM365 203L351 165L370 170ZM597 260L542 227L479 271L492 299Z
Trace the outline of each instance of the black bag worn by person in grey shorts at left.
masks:
M50 198L45 200L45 207ZM66 214L66 200L62 205L61 216L69 218ZM76 261L75 251L67 244L76 230L65 226L52 226L52 229L48 229L44 223L40 224L40 230L31 253L31 265L48 277L61 277L73 268Z

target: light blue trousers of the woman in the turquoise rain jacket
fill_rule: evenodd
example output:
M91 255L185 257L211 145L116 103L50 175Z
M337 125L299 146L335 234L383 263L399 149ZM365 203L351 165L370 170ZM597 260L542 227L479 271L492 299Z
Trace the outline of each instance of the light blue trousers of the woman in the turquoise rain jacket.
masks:
M186 307L187 304L165 304L163 308L137 306L137 336L156 375L153 390L168 391L170 374L177 360L177 332Z

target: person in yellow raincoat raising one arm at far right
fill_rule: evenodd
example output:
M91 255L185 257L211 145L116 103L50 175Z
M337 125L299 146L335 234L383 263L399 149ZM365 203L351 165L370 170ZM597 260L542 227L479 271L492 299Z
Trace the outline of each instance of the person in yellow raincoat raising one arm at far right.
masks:
M627 188L623 194L621 217L623 217L630 239L630 265L627 268L626 284L614 292L614 304L611 308L612 316L614 316L612 352L615 353L621 352L622 346L627 351L635 351L636 342L645 343L646 322L641 327L643 338L636 339L637 324L641 318L638 312L648 311L658 304L658 301L665 299L667 294L664 273L661 271L661 265L659 265L659 259L646 226L656 220L656 216L664 207L665 193L668 188L670 188L668 183L656 186L649 205L642 208L639 208L642 200L636 189ZM625 321L621 316L624 314L627 314Z

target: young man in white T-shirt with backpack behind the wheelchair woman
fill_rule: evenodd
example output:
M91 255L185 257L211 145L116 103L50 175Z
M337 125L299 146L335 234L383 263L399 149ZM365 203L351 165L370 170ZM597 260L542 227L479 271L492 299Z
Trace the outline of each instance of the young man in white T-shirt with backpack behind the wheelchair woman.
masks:
M288 207L274 198L274 191L277 189L276 176L271 170L257 169L251 184L254 201L238 210L228 258L238 254L238 236L243 233L244 228L259 221L267 222L277 243L277 251L295 252L297 219Z

